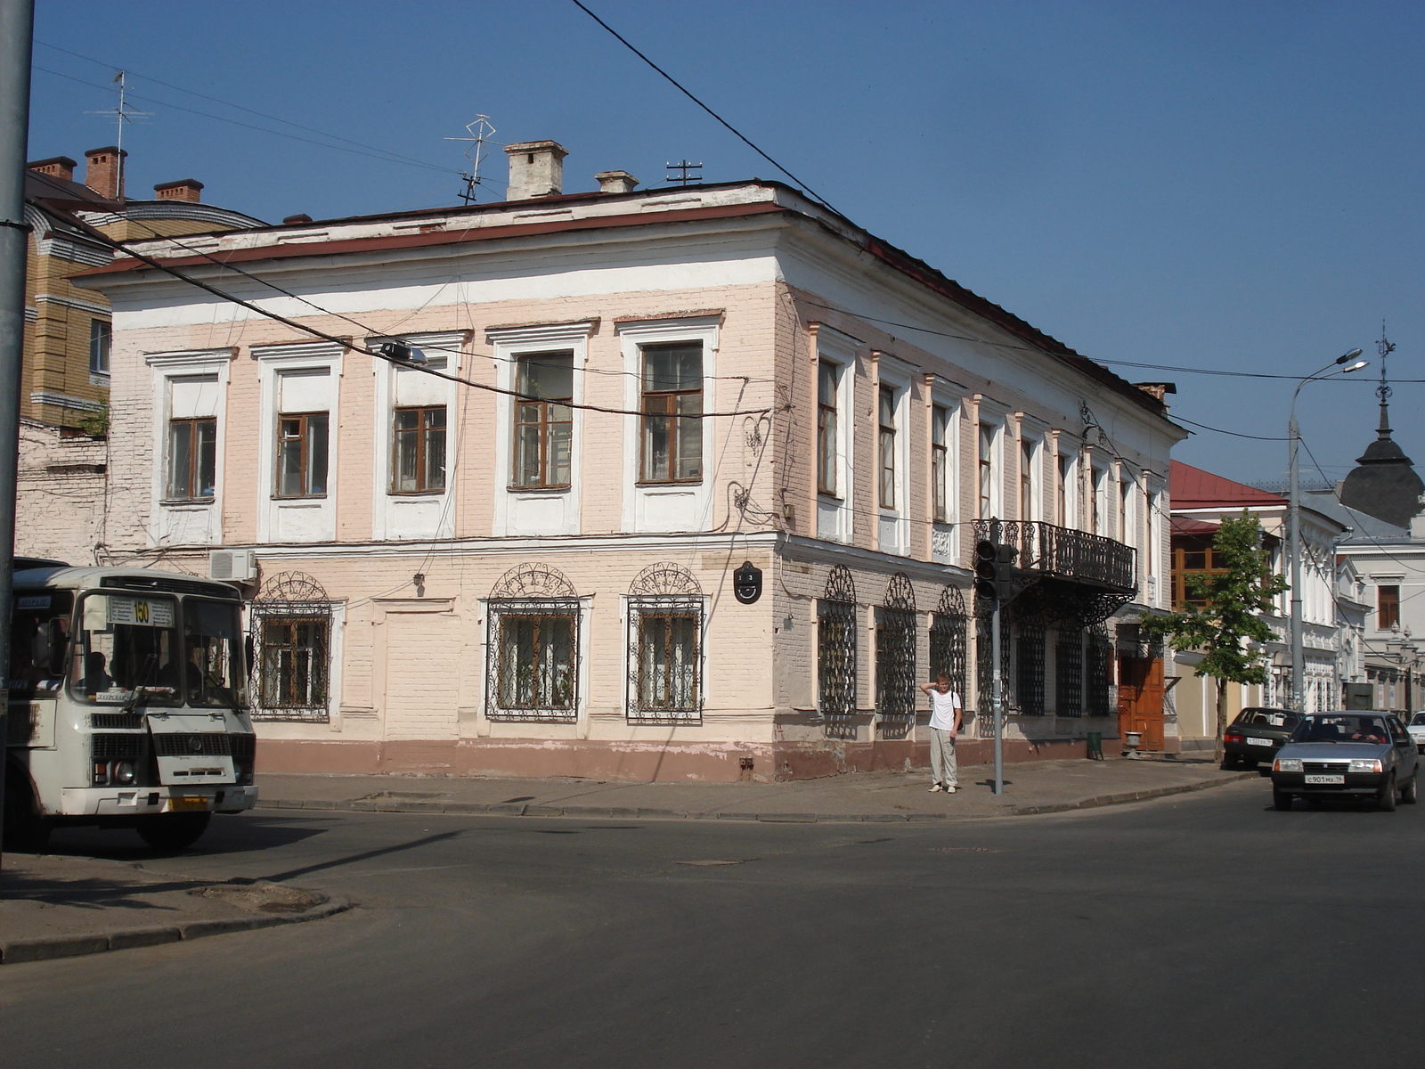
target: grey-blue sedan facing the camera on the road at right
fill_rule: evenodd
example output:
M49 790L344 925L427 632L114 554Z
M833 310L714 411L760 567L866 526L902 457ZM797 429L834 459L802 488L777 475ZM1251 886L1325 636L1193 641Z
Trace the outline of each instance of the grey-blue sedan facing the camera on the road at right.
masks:
M1307 713L1271 763L1271 800L1375 798L1388 812L1396 797L1418 798L1419 751L1391 713Z

